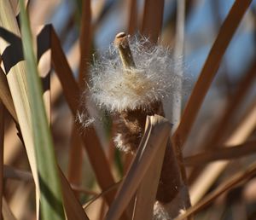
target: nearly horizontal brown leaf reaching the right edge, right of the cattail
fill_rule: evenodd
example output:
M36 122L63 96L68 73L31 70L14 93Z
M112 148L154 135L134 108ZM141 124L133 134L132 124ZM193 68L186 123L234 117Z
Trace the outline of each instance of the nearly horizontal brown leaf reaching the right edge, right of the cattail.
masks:
M214 160L237 159L240 157L249 156L252 153L256 153L255 145L256 140L252 140L229 148L227 148L227 146L222 146L209 149L206 152L184 158L183 163L187 166L205 165Z

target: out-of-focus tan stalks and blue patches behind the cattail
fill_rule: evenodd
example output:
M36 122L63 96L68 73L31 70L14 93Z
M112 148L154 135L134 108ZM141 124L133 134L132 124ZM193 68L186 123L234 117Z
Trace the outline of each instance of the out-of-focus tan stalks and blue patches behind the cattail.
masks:
M165 0L164 2L163 22L158 42L174 50L178 43L176 38L177 1ZM189 86L184 87L183 107L185 107L190 92L207 60L212 43L218 36L220 26L223 24L233 3L232 0L185 1L183 52L178 55L177 61L182 63L184 78L189 81ZM58 38L61 40L61 46L72 68L73 75L79 81L80 88L84 90L85 80L88 80L88 67L95 58L93 55L99 50L108 49L109 44L113 42L114 36L118 32L128 32L132 35L142 31L144 1L31 0L27 9L32 30L46 24L53 25ZM154 14L150 14L150 16L154 17ZM256 3L253 1L241 20L241 24L236 30L228 49L225 51L218 73L210 90L207 91L206 99L198 113L189 139L185 142L183 156L185 163L188 164L189 184L191 185L199 177L202 168L207 164L205 161L207 159L203 160L205 154L201 156L202 161L197 159L196 162L193 162L190 159L189 162L189 159L186 160L186 158L207 150L204 147L208 146L206 143L219 128L218 122L222 119L230 102L233 101L235 108L237 98L238 106L236 106L236 112L232 113L232 118L225 124L225 129L222 130L222 140L226 140L233 130L240 126L241 120L247 116L248 109L255 106L255 22ZM82 58L80 60L81 54ZM247 74L250 77L247 77ZM244 81L247 83L241 85ZM243 95L242 99L240 98L241 93L239 94L237 91L239 89L246 90L246 95ZM50 94L51 130L58 164L73 186L81 204L86 204L91 198L100 194L101 189L90 166L90 159L88 159L84 148L81 147L79 136L74 134L73 113L70 111L70 107L67 106L61 83L52 69ZM170 114L168 113L168 106L170 105L166 107L167 118ZM231 108L230 113L232 111ZM16 177L15 175L12 176L12 171L6 171L7 177L4 178L3 194L17 219L35 219L34 185L32 178L29 176L30 166L26 149L23 148L22 142L17 136L15 123L9 113L5 113L5 116L3 163L15 168L16 171L26 172L22 172L19 177ZM172 122L177 123L177 121ZM99 126L96 130L102 148L107 155L108 163L113 167L113 176L117 182L126 169L125 156L113 148L113 142L111 141L113 134L110 124L107 123L105 127ZM254 148L256 148L255 125L254 119L253 130L244 140L244 142L250 142L250 146ZM83 133L86 130L80 130L79 132ZM88 142L92 143L94 139L92 138ZM216 144L221 146L224 141L219 141ZM214 150L212 151L214 152ZM255 152L256 150L253 153ZM242 158L239 155L230 156L230 164L219 172L218 177L212 180L207 192L216 188L219 182L223 182L252 163L256 159L253 153L249 155L246 153L246 157ZM47 163L47 161L45 162ZM194 169L195 166L196 169ZM104 172L103 168L102 172ZM106 210L106 207L102 199L96 200L86 208L90 219L102 219L104 210ZM230 193L222 194L218 200L212 202L211 206L207 206L200 211L195 219L256 219L255 210L256 179L253 177L249 182L242 183L239 187L232 189Z

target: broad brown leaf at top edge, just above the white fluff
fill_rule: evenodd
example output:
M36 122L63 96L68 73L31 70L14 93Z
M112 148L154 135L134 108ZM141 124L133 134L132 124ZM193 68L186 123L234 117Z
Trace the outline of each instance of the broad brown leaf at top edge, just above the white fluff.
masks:
M144 2L143 24L141 32L149 37L152 43L157 43L162 29L164 0L146 0ZM154 14L154 16L152 16Z

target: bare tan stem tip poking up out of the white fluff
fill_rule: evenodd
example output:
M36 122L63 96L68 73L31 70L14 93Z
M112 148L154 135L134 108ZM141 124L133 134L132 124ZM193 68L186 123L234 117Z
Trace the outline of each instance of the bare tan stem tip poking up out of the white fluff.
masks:
M125 32L119 32L114 39L114 44L119 49L119 55L124 68L129 70L135 68L135 62L131 55L131 49L127 38Z

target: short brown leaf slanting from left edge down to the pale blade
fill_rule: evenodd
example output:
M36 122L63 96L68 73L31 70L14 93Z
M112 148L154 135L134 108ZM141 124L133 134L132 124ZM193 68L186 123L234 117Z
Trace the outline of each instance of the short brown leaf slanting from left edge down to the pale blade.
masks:
M8 109L9 113L17 122L17 115L15 112L15 106L10 94L9 85L7 82L6 75L3 72L3 69L0 67L0 100L3 102L3 105Z

